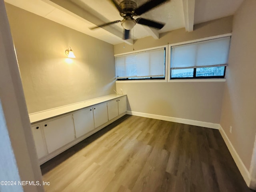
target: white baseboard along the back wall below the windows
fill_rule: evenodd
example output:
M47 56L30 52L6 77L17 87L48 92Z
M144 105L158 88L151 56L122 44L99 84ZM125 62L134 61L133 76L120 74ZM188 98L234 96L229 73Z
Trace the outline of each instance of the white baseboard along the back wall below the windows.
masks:
M212 128L212 129L220 128L220 124L196 121L196 120L190 120L190 119L182 119L182 118L134 112L134 111L127 111L127 114L140 116L140 117L147 117L147 118L152 118L152 119L171 121L171 122L176 122L176 123L183 123L183 124L188 124L188 125L195 125L195 126L200 126L200 127L207 127L207 128Z

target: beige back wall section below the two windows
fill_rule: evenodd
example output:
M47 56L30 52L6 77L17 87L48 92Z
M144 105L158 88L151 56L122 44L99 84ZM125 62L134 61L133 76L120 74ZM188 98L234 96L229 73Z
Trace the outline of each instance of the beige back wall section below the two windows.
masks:
M117 82L128 111L219 123L224 82Z

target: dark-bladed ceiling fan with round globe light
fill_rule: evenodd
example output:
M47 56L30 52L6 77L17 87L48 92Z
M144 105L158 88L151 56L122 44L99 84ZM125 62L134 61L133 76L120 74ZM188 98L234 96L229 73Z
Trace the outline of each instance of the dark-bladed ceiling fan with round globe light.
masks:
M111 2L114 4L114 6L118 9L120 16L122 16L123 20L116 20L113 22L104 23L102 25L92 27L90 29L96 29L99 27L108 26L114 23L121 22L121 25L124 28L124 39L130 38L130 30L135 26L136 23L146 25L149 27L153 27L156 29L161 29L164 27L165 23L144 19L144 18L136 18L134 19L134 16L140 16L141 14L148 12L149 10L156 8L157 6L168 2L170 0L148 0L144 4L137 6L136 2L133 0L123 0L119 4L116 2L116 0L111 0Z

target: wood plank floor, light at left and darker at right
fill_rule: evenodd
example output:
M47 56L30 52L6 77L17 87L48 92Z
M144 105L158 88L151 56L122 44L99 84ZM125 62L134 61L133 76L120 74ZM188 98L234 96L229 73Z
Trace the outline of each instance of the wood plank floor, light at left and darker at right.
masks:
M218 130L126 115L41 166L46 192L252 192Z

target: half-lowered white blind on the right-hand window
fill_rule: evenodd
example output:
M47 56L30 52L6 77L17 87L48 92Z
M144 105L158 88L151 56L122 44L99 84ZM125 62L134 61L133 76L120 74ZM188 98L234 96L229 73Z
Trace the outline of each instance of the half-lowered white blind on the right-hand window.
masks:
M230 36L171 47L171 69L227 66Z

